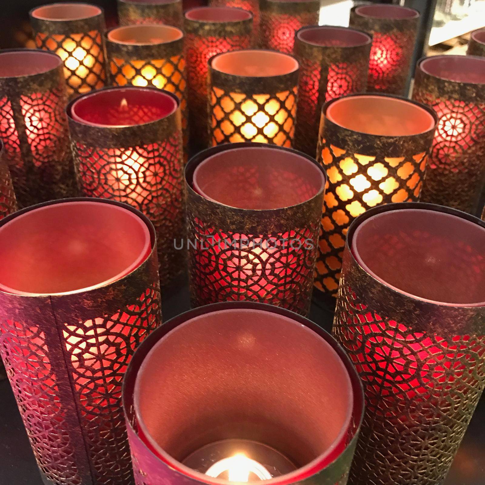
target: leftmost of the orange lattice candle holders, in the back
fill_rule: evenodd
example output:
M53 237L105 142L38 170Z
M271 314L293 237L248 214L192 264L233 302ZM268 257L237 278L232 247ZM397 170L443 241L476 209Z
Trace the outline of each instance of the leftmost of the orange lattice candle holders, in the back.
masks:
M64 62L67 93L74 97L106 83L103 10L89 3L53 3L31 10L39 49Z

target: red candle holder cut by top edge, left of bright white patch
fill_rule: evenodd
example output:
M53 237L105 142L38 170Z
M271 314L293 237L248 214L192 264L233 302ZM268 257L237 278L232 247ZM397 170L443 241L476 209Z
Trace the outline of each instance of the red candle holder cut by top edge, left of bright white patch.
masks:
M296 31L318 25L320 0L260 0L260 46L293 53Z

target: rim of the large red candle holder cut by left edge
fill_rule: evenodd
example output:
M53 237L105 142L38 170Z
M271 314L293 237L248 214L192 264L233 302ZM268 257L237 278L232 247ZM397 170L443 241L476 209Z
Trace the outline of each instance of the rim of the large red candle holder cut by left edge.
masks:
M86 288L81 288L79 290L74 290L74 291L64 291L60 293L29 293L29 292L19 292L19 293L10 293L8 291L2 291L0 289L1 294L12 294L16 297L19 298L37 298L37 297L56 297L56 296L67 296L67 295L76 295L76 294L81 294L89 291L94 291L94 290L99 290L100 288L105 288L109 285L112 285L113 283L118 283L120 281L123 281L124 279L128 278L131 276L135 271L138 271L139 268L144 266L147 261L149 261L153 255L153 252L156 250L156 242L157 242L157 236L155 232L155 227L153 226L153 223L150 221L146 215L141 212L140 210L129 206L128 204L125 204L124 202L119 202L117 200L112 200L112 199L103 199L99 197L69 197L69 198L64 198L64 199L55 199L55 200L49 200L48 202L42 202L40 204L34 204L32 206L26 207L21 210L17 210L16 212L13 212L12 214L9 214L8 216L4 217L0 221L0 227L4 226L8 222L12 221L13 219L16 219L19 216L22 216L26 214L27 212L31 212L32 210L37 210L37 209L42 209L48 206L52 205L59 205L59 204L64 204L64 203L70 203L70 202L90 202L90 203L101 203L101 204L109 204L113 206L120 207L125 210L129 210L133 214L135 214L139 219L143 221L143 223L146 225L148 228L148 232L150 234L150 243L151 243L151 250L149 251L149 254L146 256L145 259L136 267L134 267L129 273L124 275L121 278L118 279L110 279L108 281L104 281L101 285L94 285L91 287L86 287Z

